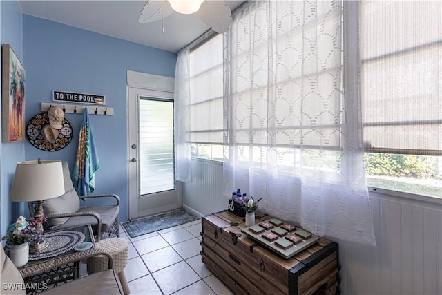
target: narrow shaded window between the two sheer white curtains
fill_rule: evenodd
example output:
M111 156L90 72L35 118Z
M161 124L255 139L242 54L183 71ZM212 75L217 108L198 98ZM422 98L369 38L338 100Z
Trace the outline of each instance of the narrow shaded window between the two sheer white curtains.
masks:
M223 35L214 35L190 53L191 153L222 161Z

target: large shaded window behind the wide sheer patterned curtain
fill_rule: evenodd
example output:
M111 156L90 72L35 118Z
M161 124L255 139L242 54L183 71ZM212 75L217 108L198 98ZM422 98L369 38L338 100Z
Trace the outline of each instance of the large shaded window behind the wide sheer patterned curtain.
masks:
M229 29L231 156L340 181L341 3L320 2L305 15L305 2L273 4L238 12Z

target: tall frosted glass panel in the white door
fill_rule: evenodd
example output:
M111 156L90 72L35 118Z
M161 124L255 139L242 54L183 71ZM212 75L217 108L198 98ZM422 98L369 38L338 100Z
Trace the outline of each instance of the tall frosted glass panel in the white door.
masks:
M140 194L175 189L173 101L140 98Z

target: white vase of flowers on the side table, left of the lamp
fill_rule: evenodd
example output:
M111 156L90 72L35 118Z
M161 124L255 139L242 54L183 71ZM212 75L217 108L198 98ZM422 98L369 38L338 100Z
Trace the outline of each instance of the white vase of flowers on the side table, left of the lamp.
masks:
M28 242L32 235L28 231L28 226L26 218L20 216L8 227L6 236L1 236L1 240L5 240L6 246L9 247L9 258L16 267L26 265L29 260Z

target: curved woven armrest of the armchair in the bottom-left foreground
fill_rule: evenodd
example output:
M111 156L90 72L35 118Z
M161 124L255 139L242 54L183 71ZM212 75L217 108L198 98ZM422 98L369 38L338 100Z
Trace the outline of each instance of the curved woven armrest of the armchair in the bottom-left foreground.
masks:
M55 267L67 265L68 263L75 263L96 255L106 255L108 257L108 269L112 269L113 258L111 252L104 248L92 248L86 251L79 251L73 254L69 254L62 257L55 257L50 260L46 260L44 263L37 263L33 265L25 265L19 268L19 272L23 278L28 276L34 276L35 274L41 274L41 272L48 271Z

